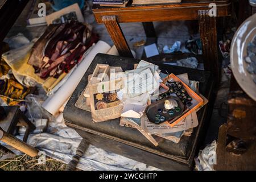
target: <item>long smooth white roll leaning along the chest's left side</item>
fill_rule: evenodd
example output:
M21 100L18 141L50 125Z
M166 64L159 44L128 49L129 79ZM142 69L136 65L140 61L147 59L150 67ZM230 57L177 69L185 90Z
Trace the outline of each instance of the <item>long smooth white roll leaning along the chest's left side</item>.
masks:
M61 86L61 88L52 96L49 97L42 107L52 115L55 115L65 101L72 95L82 76L89 68L97 53L106 53L110 49L109 44L99 40L92 50L85 56L85 59L79 64L76 70L69 76L68 80Z

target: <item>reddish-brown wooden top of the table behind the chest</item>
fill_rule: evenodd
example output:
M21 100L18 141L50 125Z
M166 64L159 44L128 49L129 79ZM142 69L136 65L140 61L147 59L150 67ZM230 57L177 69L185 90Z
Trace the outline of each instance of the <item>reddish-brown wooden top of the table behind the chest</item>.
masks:
M209 1L205 3L180 3L175 5L132 6L123 8L99 9L93 7L93 13L98 23L104 23L102 16L115 15L119 23L154 22L170 20L198 19L199 10L209 10ZM231 12L231 2L217 2L217 16L228 16Z

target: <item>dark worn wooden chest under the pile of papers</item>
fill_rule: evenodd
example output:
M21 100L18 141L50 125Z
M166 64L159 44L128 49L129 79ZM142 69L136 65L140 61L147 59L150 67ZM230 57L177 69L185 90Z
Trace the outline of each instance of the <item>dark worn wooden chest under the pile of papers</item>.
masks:
M191 137L182 137L179 143L163 139L159 146L151 144L137 129L119 126L119 118L112 121L93 123L91 113L75 106L77 99L88 82L98 63L122 67L123 71L133 69L139 60L127 57L98 54L84 77L82 77L75 92L73 92L64 109L64 119L67 126L72 127L88 140L90 144L104 150L112 151L127 158L146 163L166 170L189 170L192 168L195 152L204 140L204 129L209 122L212 107L213 76L209 72L190 68L175 67L161 61L151 61L159 65L163 73L188 73L190 80L200 81L200 93L208 98L209 103L197 112L199 126L193 129Z

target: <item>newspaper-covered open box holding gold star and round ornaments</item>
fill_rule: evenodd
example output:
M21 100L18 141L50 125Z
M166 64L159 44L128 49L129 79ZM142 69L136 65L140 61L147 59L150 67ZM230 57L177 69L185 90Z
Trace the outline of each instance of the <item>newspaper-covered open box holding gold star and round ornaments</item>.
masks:
M123 109L117 92L122 89L122 79L89 85L90 109L93 122L119 118Z

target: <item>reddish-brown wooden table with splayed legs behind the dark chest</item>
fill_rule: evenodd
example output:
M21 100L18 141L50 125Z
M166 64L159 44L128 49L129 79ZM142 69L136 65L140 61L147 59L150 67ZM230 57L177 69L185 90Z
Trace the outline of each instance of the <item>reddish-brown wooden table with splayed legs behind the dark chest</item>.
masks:
M93 5L98 23L104 23L121 56L133 57L119 23L143 22L146 35L154 36L154 21L199 20L201 42L203 43L204 67L220 75L217 53L216 17L210 17L210 3L217 7L217 17L228 16L231 12L229 0L183 0L179 4L147 5L127 7L104 7ZM130 3L131 4L131 3Z

